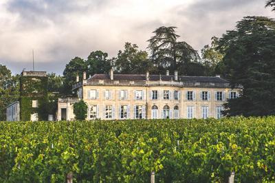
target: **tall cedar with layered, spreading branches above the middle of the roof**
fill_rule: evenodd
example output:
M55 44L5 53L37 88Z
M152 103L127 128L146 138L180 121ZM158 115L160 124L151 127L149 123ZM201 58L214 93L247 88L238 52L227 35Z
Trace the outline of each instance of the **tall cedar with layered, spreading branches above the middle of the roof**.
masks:
M185 41L177 41L179 35L175 33L176 27L157 28L148 40L148 49L151 51L151 61L157 66L159 72L166 69L171 72L179 70L181 74L188 74L188 64L197 62L199 54Z

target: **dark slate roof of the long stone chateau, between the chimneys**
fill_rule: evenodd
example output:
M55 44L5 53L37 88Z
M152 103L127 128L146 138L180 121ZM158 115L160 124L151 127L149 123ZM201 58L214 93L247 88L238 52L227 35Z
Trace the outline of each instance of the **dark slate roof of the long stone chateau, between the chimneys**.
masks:
M162 80L169 81L174 80L174 76L161 75ZM229 83L228 80L219 78L216 76L178 76L179 80L186 83ZM150 75L150 80L159 80L159 75ZM109 74L94 74L89 80L111 80ZM135 80L135 81L145 81L145 74L113 74L113 80Z

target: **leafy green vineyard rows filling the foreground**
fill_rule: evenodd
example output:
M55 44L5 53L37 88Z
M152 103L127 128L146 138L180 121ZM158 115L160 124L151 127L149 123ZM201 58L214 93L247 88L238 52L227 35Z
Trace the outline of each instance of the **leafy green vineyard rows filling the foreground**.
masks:
M275 117L0 122L0 182L275 182Z

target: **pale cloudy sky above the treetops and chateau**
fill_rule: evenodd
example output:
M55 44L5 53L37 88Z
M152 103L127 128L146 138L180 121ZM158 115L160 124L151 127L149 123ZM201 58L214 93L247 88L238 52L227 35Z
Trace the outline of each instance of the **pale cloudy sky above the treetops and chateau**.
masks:
M0 64L62 74L74 56L115 56L126 41L146 49L160 26L201 50L248 15L275 17L264 0L0 0Z

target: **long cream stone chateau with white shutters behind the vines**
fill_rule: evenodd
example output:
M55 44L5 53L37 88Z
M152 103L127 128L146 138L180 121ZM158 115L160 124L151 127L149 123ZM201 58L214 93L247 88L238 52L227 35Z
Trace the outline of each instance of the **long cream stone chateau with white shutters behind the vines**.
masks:
M73 120L73 104L84 100L87 120L221 118L223 103L239 96L219 76L94 74L73 86L78 98L58 100L58 120Z

